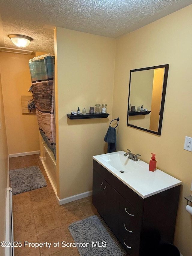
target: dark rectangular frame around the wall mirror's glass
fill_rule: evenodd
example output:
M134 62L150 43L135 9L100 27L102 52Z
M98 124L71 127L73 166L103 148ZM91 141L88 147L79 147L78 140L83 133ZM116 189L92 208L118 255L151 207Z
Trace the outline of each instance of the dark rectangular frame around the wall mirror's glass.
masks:
M161 97L161 108L160 108L160 113L159 113L160 117L159 117L158 131L153 131L153 130L150 130L150 129L146 129L146 128L143 128L143 127L139 127L139 126L130 124L129 121L128 121L128 117L129 117L129 102L130 102L130 89L131 89L131 73L132 72L137 72L137 71L149 70L149 69L157 69L157 68L165 68L165 70L164 70L164 80L163 80L162 97ZM150 133L153 133L153 134L161 135L164 104L165 104L165 93L166 93L166 88L167 88L168 70L169 70L169 64L130 70L129 96L128 96L128 114L127 114L127 125L128 126L131 126L131 127L143 130L143 131L147 131L147 132L150 132Z

